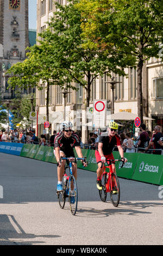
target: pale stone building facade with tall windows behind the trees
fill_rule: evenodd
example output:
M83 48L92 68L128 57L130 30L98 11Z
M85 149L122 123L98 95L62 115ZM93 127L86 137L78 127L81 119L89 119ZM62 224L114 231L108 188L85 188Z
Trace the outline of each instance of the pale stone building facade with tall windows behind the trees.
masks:
M66 4L65 0L56 0L60 4ZM53 16L55 11L54 1L52 0L37 0L37 33L44 31L47 28L46 22ZM79 90L75 91L68 89L66 102L59 86L51 86L49 93L49 122L51 123L51 131L59 131L59 124L64 120L72 121L74 130L80 130L82 141L87 142L86 122L90 119L89 130L93 130L91 123L91 112L93 100L107 100L106 123L109 121L111 113L111 102L114 100L114 113L127 111L137 114L137 81L136 70L134 68L126 69L128 78L119 77L116 74L111 74L115 77L117 83L114 90L114 99L110 88L109 78L104 75L98 77L91 86L91 99L89 109L85 108L86 92L85 89L78 84L74 84ZM46 84L41 84L42 90L36 90L36 111L38 112L38 135L43 133L44 122L46 120ZM148 129L152 131L154 125L162 126L163 118L163 63L159 59L151 59L143 65L142 76L142 92L143 92L143 115L155 120L147 122ZM64 112L65 111L65 112ZM89 117L88 114L89 113Z

